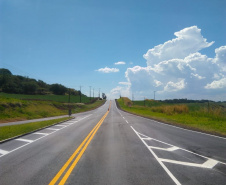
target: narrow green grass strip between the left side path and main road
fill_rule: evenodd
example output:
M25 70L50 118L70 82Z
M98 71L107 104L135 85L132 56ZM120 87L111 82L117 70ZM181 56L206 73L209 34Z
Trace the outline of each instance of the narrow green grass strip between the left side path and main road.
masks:
M3 127L0 127L0 141L9 139L12 137L16 137L25 133L29 133L37 129L59 123L61 121L66 121L68 119L70 118L66 117L66 118L59 118L59 119L48 120L48 121L26 123L21 125L3 126Z

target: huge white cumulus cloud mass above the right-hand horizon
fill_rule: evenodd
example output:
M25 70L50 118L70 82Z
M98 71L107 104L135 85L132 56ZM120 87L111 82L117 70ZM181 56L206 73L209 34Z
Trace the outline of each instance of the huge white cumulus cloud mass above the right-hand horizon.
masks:
M126 70L127 90L147 97L157 91L161 99L225 97L226 46L216 48L215 57L210 58L200 51L214 42L207 42L197 26L174 35L176 38L147 51L143 56L146 67Z

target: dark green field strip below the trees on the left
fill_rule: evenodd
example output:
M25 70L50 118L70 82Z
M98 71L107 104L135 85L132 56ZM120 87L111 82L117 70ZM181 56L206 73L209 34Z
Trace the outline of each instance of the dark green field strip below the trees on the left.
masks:
M13 98L20 100L45 100L45 101L56 101L56 102L68 102L68 95L26 95L26 94L8 94L8 93L0 93L1 97L5 98ZM82 95L82 103L89 103L90 98ZM79 103L80 96L70 96L71 103Z

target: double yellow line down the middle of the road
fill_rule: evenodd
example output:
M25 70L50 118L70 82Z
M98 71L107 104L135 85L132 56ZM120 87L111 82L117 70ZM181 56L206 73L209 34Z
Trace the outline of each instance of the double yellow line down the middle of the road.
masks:
M83 142L80 144L80 146L75 150L75 152L72 154L72 156L68 159L68 161L60 169L60 171L56 174L56 176L53 178L53 180L49 183L49 185L54 185L59 180L59 178L61 176L63 176L63 178L61 179L61 181L59 182L59 184L60 185L65 184L65 182L67 181L68 177L70 176L72 170L75 168L76 164L78 163L78 161L82 157L83 153L85 152L86 148L88 147L89 143L91 142L91 140L93 139L94 135L96 134L97 130L99 129L99 127L101 126L101 124L103 123L103 121L105 120L105 118L107 117L107 115L109 113L109 110L110 110L110 107L111 107L111 102L110 102L108 111L100 119L100 121L96 124L96 126L91 130L91 132L83 140ZM69 168L68 168L68 166L69 166Z

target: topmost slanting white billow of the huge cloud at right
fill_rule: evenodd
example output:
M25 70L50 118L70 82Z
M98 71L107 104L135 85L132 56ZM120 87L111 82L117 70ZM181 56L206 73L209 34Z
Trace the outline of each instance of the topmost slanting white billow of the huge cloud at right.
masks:
M201 29L198 29L197 26L185 28L175 32L174 35L177 38L155 46L143 55L148 66L164 60L183 59L189 54L198 52L214 43L208 43L201 35Z

